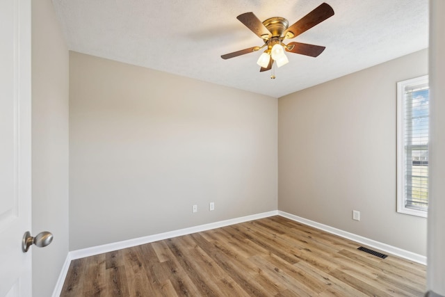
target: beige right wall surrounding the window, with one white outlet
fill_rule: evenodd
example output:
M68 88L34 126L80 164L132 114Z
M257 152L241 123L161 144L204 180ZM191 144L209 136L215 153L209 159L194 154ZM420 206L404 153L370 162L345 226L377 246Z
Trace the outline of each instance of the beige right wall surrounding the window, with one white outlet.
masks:
M427 50L280 98L278 209L426 255L396 212L396 82L424 74Z

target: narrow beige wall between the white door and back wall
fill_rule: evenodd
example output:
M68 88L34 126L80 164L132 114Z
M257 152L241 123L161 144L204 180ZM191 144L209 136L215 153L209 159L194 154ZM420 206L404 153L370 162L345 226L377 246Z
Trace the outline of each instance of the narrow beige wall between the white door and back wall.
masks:
M33 234L54 241L33 248L33 296L51 296L68 252L69 55L51 0L32 3Z

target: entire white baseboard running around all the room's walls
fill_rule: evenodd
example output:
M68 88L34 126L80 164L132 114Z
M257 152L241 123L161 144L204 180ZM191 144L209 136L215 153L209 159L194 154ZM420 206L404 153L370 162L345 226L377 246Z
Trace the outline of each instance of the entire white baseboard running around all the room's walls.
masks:
M394 246L389 246L386 243L381 243L379 241L375 241L373 239L368 239L363 236L359 236L357 234L353 234L350 232L346 232L343 230L339 230L334 227L330 227L328 225L323 225L321 223L314 222L313 220L308 220L306 218L301 218L300 216L295 216L293 214L286 213L284 211L268 211L261 214L253 214L251 216L243 216L241 218L232 218L229 220L221 220L215 223L209 223L204 225L199 225L195 227L188 227L180 230L164 232L161 234L153 234L149 236L143 236L136 239L129 239L126 241L118 241L115 243L108 243L102 246L92 246L91 248L83 248L81 250L72 250L68 252L67 258L65 259L65 263L63 264L62 271L60 271L59 278L56 283L56 287L53 291L53 297L60 296L60 293L63 288L63 282L65 282L65 278L68 273L68 268L70 268L70 263L74 259L80 259L83 257L90 257L94 255L99 255L104 252L112 252L113 250L121 250L122 248L131 248L132 246L139 246L140 244L150 243L154 241L160 241L163 239L169 239L177 236L183 236L187 234L192 234L195 232L202 232L207 230L212 230L220 227L225 227L229 225L234 225L238 223L248 222L249 220L258 220L259 218L267 218L269 216L283 216L284 218L289 218L291 220L295 220L298 223L302 223L305 225L309 225L311 227L315 227L319 230L323 230L325 232L329 232L338 236L341 236L346 239L350 239L352 241L357 241L358 243L362 243L365 246L369 246L371 248L376 248L378 250L382 250L384 252L388 252L392 255L396 255L398 257L403 257L410 261L420 263L426 265L426 257L416 254L414 252L410 252L407 250L403 250L401 248L396 248Z

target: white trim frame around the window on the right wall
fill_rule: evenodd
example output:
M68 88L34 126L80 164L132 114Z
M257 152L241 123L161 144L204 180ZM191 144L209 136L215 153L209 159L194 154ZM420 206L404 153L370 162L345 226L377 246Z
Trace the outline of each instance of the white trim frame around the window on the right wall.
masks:
M397 83L397 212L412 216L428 217L428 210L413 209L405 206L405 88L416 84L428 84L428 74ZM429 100L429 97L428 97ZM428 102L428 109L430 105ZM429 120L429 118L428 118ZM429 125L428 125L429 130ZM428 140L429 141L429 140ZM428 181L429 182L429 181Z

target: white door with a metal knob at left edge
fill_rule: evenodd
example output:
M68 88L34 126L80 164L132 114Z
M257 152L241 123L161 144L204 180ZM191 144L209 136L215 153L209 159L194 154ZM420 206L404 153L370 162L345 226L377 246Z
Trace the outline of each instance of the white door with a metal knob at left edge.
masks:
M0 1L0 297L31 296L31 0Z

